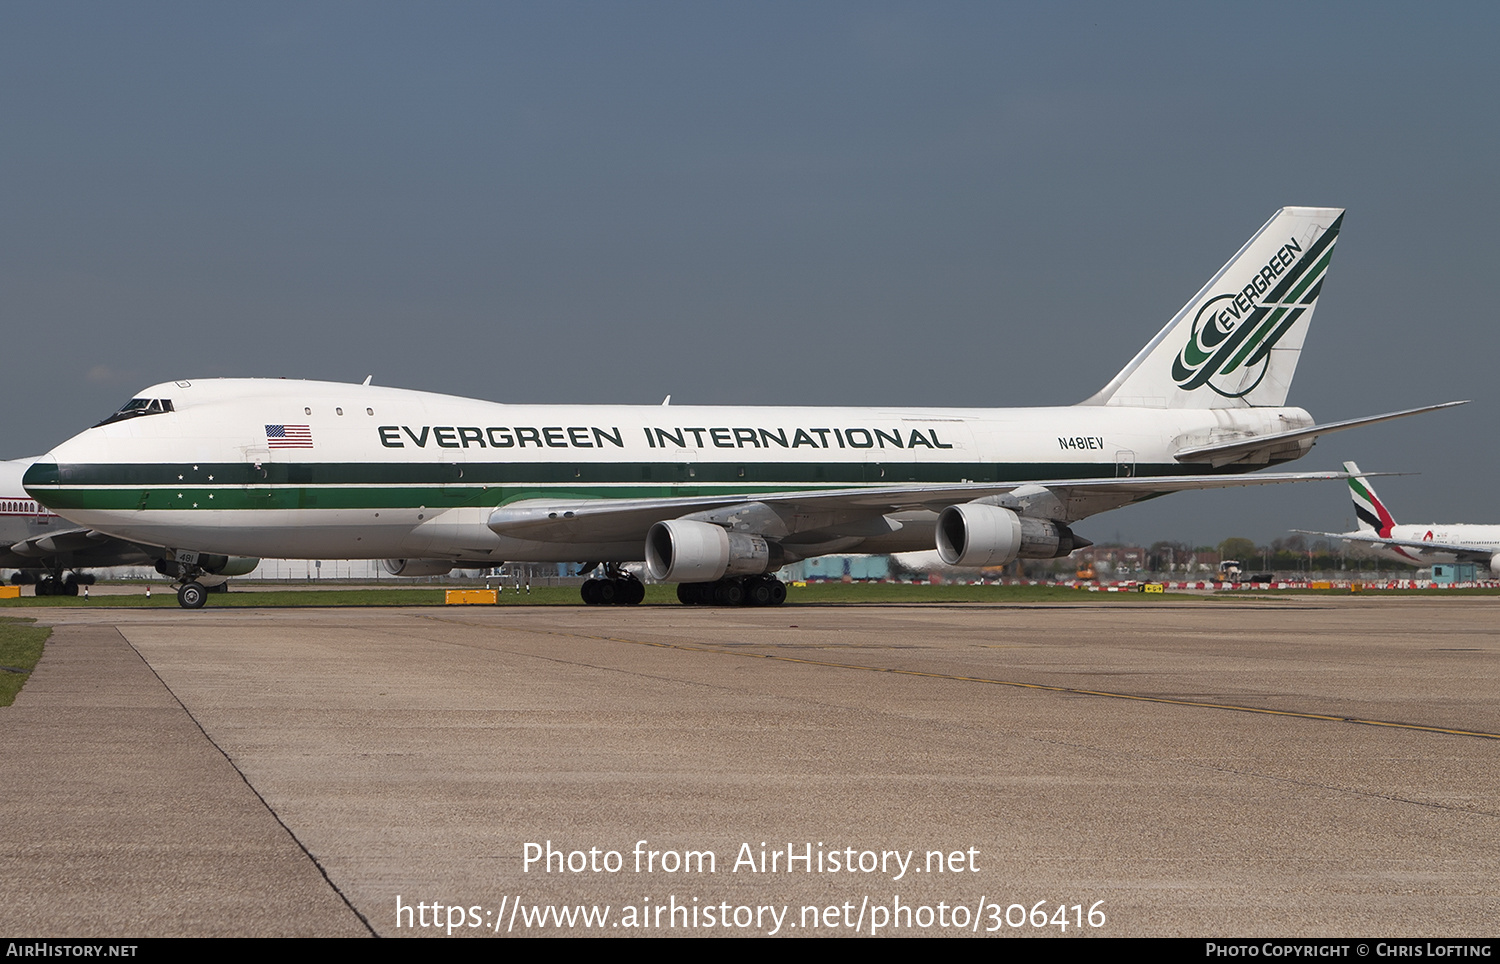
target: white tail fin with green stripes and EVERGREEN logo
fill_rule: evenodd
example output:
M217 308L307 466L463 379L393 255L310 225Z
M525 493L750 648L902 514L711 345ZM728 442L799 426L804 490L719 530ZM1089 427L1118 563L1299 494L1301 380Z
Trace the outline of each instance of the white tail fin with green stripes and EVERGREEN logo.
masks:
M1084 405L1286 405L1334 243L1338 207L1284 207Z

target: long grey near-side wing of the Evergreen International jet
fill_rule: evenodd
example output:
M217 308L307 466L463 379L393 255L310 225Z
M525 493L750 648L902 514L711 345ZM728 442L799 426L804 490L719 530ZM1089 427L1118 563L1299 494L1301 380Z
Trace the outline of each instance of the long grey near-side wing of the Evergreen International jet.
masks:
M1077 522L1170 492L1341 478L1348 478L1348 472L867 486L657 499L525 499L494 510L489 528L498 535L536 541L598 543L645 538L654 523L684 516L712 514L712 520L718 522L723 513L716 510L735 510L752 513L747 520L752 520L753 528L772 538L810 529L876 535L891 531L880 520L882 516L914 510L938 511L975 499L998 501L1014 508L1035 507L1054 522Z

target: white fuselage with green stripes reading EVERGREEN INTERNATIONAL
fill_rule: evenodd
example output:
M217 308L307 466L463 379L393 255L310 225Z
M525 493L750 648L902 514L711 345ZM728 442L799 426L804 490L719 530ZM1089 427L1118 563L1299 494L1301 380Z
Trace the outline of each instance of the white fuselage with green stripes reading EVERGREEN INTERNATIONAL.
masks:
M1233 474L1268 462L1215 469L1173 454L1312 424L1298 408L501 405L285 379L142 394L170 400L168 411L82 432L27 486L78 525L158 546L496 564L642 558L636 534L555 543L492 532L489 514L518 501ZM932 546L930 520L861 543Z

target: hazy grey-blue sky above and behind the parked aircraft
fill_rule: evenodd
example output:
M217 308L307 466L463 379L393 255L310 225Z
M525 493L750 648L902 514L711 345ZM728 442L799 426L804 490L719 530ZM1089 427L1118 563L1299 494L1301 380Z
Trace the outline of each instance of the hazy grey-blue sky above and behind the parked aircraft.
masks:
M6 3L18 457L165 379L1053 405L1284 204L1347 207L1299 468L1497 522L1486 4ZM1094 540L1344 528L1341 486Z

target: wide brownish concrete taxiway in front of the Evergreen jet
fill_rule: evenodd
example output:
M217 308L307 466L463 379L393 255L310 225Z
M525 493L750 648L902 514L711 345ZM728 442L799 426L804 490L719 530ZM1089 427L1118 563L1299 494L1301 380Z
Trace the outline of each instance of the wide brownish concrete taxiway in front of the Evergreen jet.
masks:
M1497 606L32 610L0 930L1486 936Z

